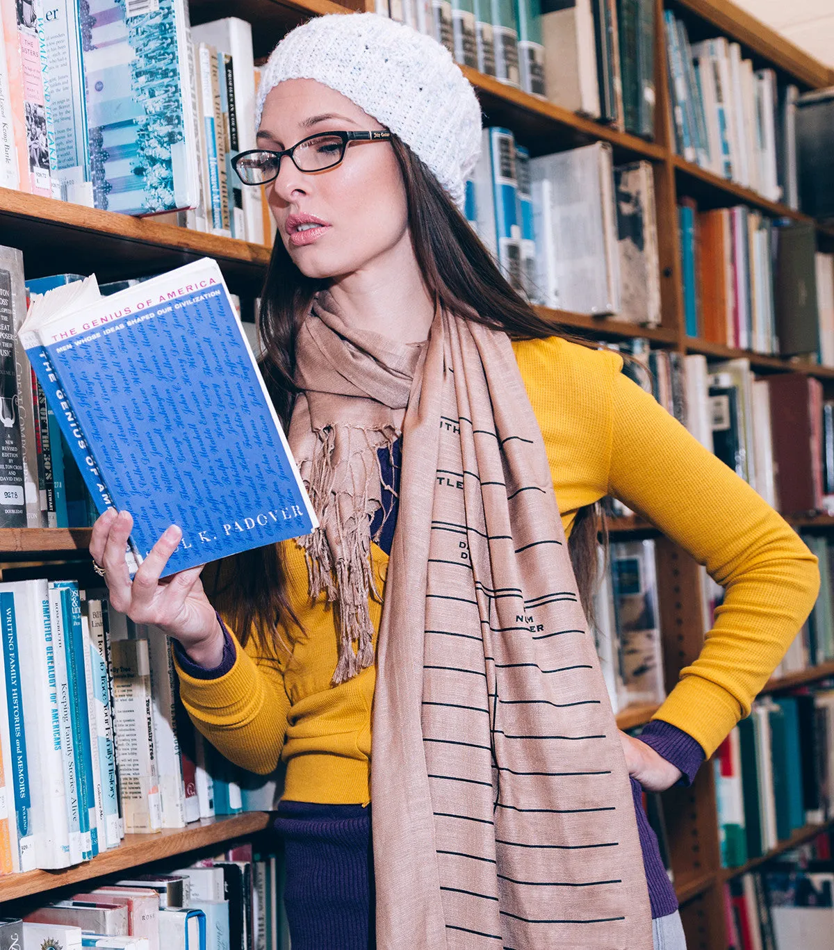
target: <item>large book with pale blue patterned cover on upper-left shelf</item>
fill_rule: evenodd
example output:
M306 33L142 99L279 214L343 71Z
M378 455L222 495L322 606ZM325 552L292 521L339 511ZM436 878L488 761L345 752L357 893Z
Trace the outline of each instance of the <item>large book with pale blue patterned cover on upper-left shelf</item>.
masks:
M147 12L133 8L144 7ZM180 0L85 4L81 31L93 199L147 215L197 206L197 142Z

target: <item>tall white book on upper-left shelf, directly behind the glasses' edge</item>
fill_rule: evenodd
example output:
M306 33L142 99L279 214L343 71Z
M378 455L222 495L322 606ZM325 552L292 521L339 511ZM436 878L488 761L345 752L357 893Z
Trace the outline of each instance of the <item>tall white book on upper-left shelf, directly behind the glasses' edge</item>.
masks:
M385 15L388 15L386 5ZM192 35L199 43L210 43L232 57L235 74L235 110L237 112L238 150L256 148L255 128L255 60L252 52L252 26L236 16L203 23L192 27ZM243 187L243 218L246 240L264 242L263 215L260 189ZM240 237L236 235L236 237Z

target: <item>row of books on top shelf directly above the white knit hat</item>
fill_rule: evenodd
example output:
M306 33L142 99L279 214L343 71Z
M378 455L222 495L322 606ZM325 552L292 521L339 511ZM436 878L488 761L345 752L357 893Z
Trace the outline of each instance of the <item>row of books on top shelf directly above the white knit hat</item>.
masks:
M377 0L445 44L461 66L654 139L650 0Z

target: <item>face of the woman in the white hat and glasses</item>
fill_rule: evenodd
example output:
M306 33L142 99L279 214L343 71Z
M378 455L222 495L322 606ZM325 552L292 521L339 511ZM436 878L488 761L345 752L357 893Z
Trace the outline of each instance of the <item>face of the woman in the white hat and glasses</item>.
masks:
M293 79L267 95L257 145L281 150L318 132L383 127L329 86ZM278 235L306 276L365 270L410 240L406 191L389 142L351 142L340 165L313 173L299 171L285 156L266 187ZM299 231L299 216L322 227Z

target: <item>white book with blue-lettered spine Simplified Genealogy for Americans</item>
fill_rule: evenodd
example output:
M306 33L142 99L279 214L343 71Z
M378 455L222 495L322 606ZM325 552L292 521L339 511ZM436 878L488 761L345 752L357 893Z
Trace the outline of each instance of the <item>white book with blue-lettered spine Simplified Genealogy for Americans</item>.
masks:
M24 714L32 834L20 840L21 868L55 869L73 861L64 779L63 732L57 695L58 645L52 638L46 580L0 584L0 594L14 596ZM33 846L32 846L33 845Z

